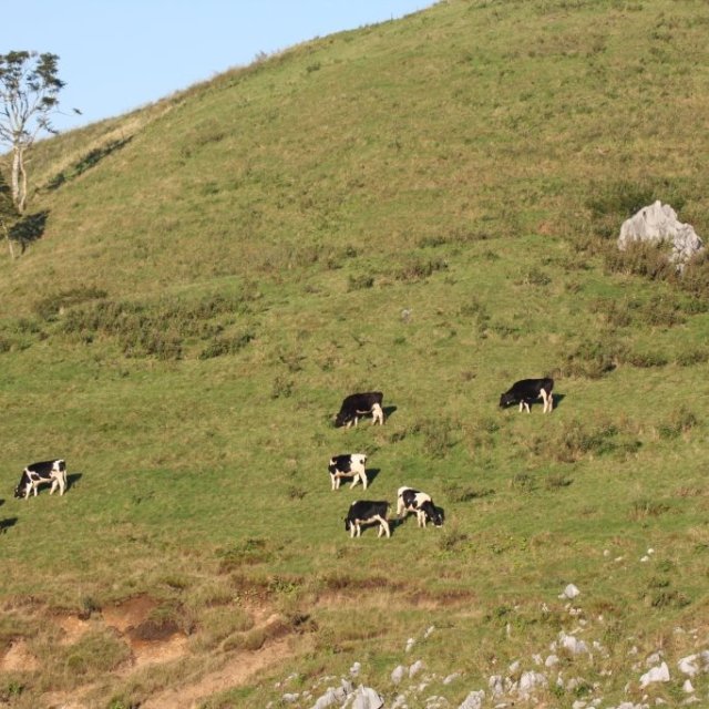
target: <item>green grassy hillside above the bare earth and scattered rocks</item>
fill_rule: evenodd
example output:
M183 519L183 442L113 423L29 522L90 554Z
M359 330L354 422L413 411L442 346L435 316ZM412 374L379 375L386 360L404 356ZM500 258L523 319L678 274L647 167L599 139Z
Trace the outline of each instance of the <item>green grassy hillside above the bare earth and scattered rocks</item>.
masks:
M425 659L443 674L485 678L492 655L546 647L562 621L538 607L568 582L620 628L618 666L627 637L649 653L676 625L706 628L707 366L692 354L709 316L574 245L588 202L620 181L664 185L709 232L708 27L691 1L446 2L42 144L47 232L0 263L6 597L73 609L146 592L198 627L205 586L263 583L318 624L294 667L364 656L372 682L432 618L444 630ZM202 318L191 304L237 305L212 318L219 332L189 330L182 359L126 358L101 328L66 335L66 315L37 315L86 286L175 338ZM614 301L634 306L629 322ZM236 353L197 358L245 331ZM587 342L667 363L626 358L590 379L568 360ZM546 372L563 395L552 417L496 410L514 378ZM397 407L387 425L330 428L362 388ZM341 517L360 492L331 493L325 473L350 450L380 471L372 497L419 485L445 531L350 542ZM13 501L22 465L58 452L81 473L70 493ZM249 538L260 561L219 575L225 551L249 561ZM630 561L648 546L657 566ZM372 578L388 612L362 612L354 633L354 609L322 597ZM466 604L446 610L455 594ZM507 641L507 621L524 635ZM608 696L627 679L605 679Z

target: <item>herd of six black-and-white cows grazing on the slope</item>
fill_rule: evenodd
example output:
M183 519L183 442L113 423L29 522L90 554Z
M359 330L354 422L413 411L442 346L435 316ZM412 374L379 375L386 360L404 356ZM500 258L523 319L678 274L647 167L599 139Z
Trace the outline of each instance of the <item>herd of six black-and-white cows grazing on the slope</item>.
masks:
M542 399L544 413L547 413L554 407L553 389L553 379L523 379L515 382L500 397L500 407L506 408L518 403L520 411L526 409L527 413L530 413L530 404ZM335 425L350 428L351 425L357 425L360 418L368 415L372 417L373 424L383 425L384 410L382 401L383 394L381 391L369 391L346 397L335 418ZM357 483L361 482L362 487L367 490L369 481L366 466L367 455L364 453L333 455L328 464L332 490L339 489L342 479L351 479L352 484L350 487L354 487ZM60 495L64 494L66 490L66 463L63 459L28 465L22 471L20 482L14 489L14 496L24 497L25 500L32 493L37 496L38 487L45 484L51 484L50 494L56 489L59 489ZM378 536L382 534L388 537L391 536L388 520L389 506L389 503L383 500L354 501L345 517L345 530L353 537L361 535L362 526L378 524ZM410 512L415 514L417 524L420 527L425 527L429 522L436 527L443 524L443 513L433 504L431 495L413 487L399 487L397 491L397 515L402 517Z

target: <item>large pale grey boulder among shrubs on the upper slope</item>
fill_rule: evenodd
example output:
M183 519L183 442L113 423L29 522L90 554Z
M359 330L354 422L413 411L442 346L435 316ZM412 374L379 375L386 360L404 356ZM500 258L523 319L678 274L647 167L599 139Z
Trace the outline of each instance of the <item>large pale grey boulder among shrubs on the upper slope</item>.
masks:
M691 256L703 248L690 224L682 224L677 213L668 204L659 199L643 207L637 214L626 219L620 227L618 248L625 250L628 244L647 242L656 244L669 242L672 245L670 260L684 265Z

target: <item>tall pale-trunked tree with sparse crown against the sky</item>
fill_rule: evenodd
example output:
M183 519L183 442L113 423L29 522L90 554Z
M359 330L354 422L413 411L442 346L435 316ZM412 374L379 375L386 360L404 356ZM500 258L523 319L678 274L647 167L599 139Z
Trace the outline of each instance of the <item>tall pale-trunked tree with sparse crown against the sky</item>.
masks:
M59 56L38 52L0 54L0 142L10 145L10 191L19 214L27 203L24 157L41 131L56 133L50 116L64 82L56 75Z

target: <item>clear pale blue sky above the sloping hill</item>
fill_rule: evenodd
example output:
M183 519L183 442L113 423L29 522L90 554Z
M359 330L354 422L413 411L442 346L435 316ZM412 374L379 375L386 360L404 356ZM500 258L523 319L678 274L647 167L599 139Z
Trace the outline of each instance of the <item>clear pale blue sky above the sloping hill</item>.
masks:
M403 17L434 0L22 0L3 3L0 54L59 54L53 124L120 115L249 64L259 52ZM73 115L72 107L83 115Z

